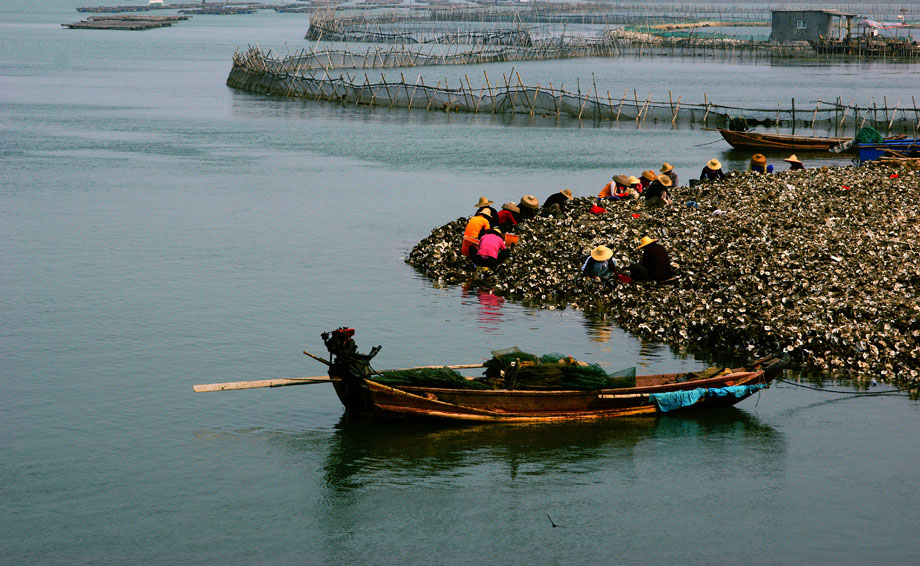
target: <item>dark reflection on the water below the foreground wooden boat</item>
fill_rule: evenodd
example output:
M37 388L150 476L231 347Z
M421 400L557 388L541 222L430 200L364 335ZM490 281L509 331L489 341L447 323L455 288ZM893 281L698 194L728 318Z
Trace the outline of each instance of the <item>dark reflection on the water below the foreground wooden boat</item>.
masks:
M634 468L647 443L718 438L750 443L763 467L783 450L783 438L756 416L734 407L679 417L622 418L606 422L444 427L349 420L336 425L323 465L333 492L373 485L425 484L440 477L486 474L582 475ZM296 443L295 443L296 445Z

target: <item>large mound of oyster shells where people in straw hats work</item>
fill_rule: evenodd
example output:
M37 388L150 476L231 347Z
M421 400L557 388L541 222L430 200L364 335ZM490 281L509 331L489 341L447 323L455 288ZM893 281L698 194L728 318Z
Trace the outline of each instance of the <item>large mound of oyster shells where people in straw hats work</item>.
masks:
M491 271L460 254L466 217L432 230L406 262L440 284L601 313L665 344L785 351L802 369L920 383L920 171L730 173L672 193L669 207L604 201L599 215L595 197L576 198L561 218L518 226L519 243ZM645 235L668 250L675 284L581 277L600 244L621 268L638 262Z

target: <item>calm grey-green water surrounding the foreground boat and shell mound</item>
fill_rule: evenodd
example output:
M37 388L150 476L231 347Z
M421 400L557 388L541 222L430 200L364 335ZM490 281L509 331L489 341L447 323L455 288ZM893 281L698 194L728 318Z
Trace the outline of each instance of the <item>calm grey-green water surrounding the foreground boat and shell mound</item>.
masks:
M224 86L234 49L304 47L305 18L70 31L86 2L35 4L0 6L3 563L916 560L920 404L903 397L778 384L688 418L434 428L343 422L323 385L192 393L321 374L300 351L341 324L384 345L378 367L511 345L704 367L580 312L436 288L402 260L481 194L740 167L712 132L251 96ZM712 68L519 67L726 103L920 95L914 67Z

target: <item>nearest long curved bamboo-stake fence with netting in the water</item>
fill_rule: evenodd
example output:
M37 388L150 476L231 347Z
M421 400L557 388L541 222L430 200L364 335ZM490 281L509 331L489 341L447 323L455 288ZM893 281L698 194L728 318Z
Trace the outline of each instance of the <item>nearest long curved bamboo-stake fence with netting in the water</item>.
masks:
M390 52L393 59L398 59ZM505 53L499 51L499 53ZM453 57L458 57L454 53ZM487 60L491 55L483 50L466 55ZM461 56L462 57L462 56ZM258 47L237 51L233 55L233 67L227 77L227 86L256 94L271 94L293 98L353 104L367 107L407 108L439 112L468 112L492 114L526 114L559 118L561 116L596 122L629 122L637 124L660 122L665 124L699 123L713 127L728 126L730 120L743 118L748 124L801 126L831 125L839 130L856 129L866 123L886 132L913 133L920 124L920 108L916 100L898 100L893 107L885 99L884 107L859 106L853 103L822 103L814 109L796 114L795 102L790 108L741 108L712 102L704 95L700 102L689 102L678 95L668 93L668 100L654 100L652 94L642 96L636 89L625 90L621 95L590 81L576 82L575 91L565 90L564 85L528 85L520 73L503 73L500 77L490 76L483 70L482 81L476 86L473 79L463 75L449 83L426 84L422 75L407 80L400 72L399 80L388 80L384 73L374 74L335 67L348 61L355 69L366 70L378 60L392 60L390 55L379 51L367 52L363 58L355 54L342 55L333 52L307 52L287 58L273 58L271 52L263 53ZM318 67L317 67L318 65ZM338 76L335 76L338 74Z

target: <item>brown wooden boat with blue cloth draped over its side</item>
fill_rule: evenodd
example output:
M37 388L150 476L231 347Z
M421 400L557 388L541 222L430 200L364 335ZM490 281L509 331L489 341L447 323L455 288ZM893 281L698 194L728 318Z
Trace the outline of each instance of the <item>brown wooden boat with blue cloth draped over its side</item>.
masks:
M771 356L747 368L641 375L634 387L587 391L390 386L375 381L379 372L370 370L380 346L360 354L353 333L338 329L323 334L331 363L311 357L329 364L329 377L347 414L384 421L552 422L734 405L766 387L786 363Z

